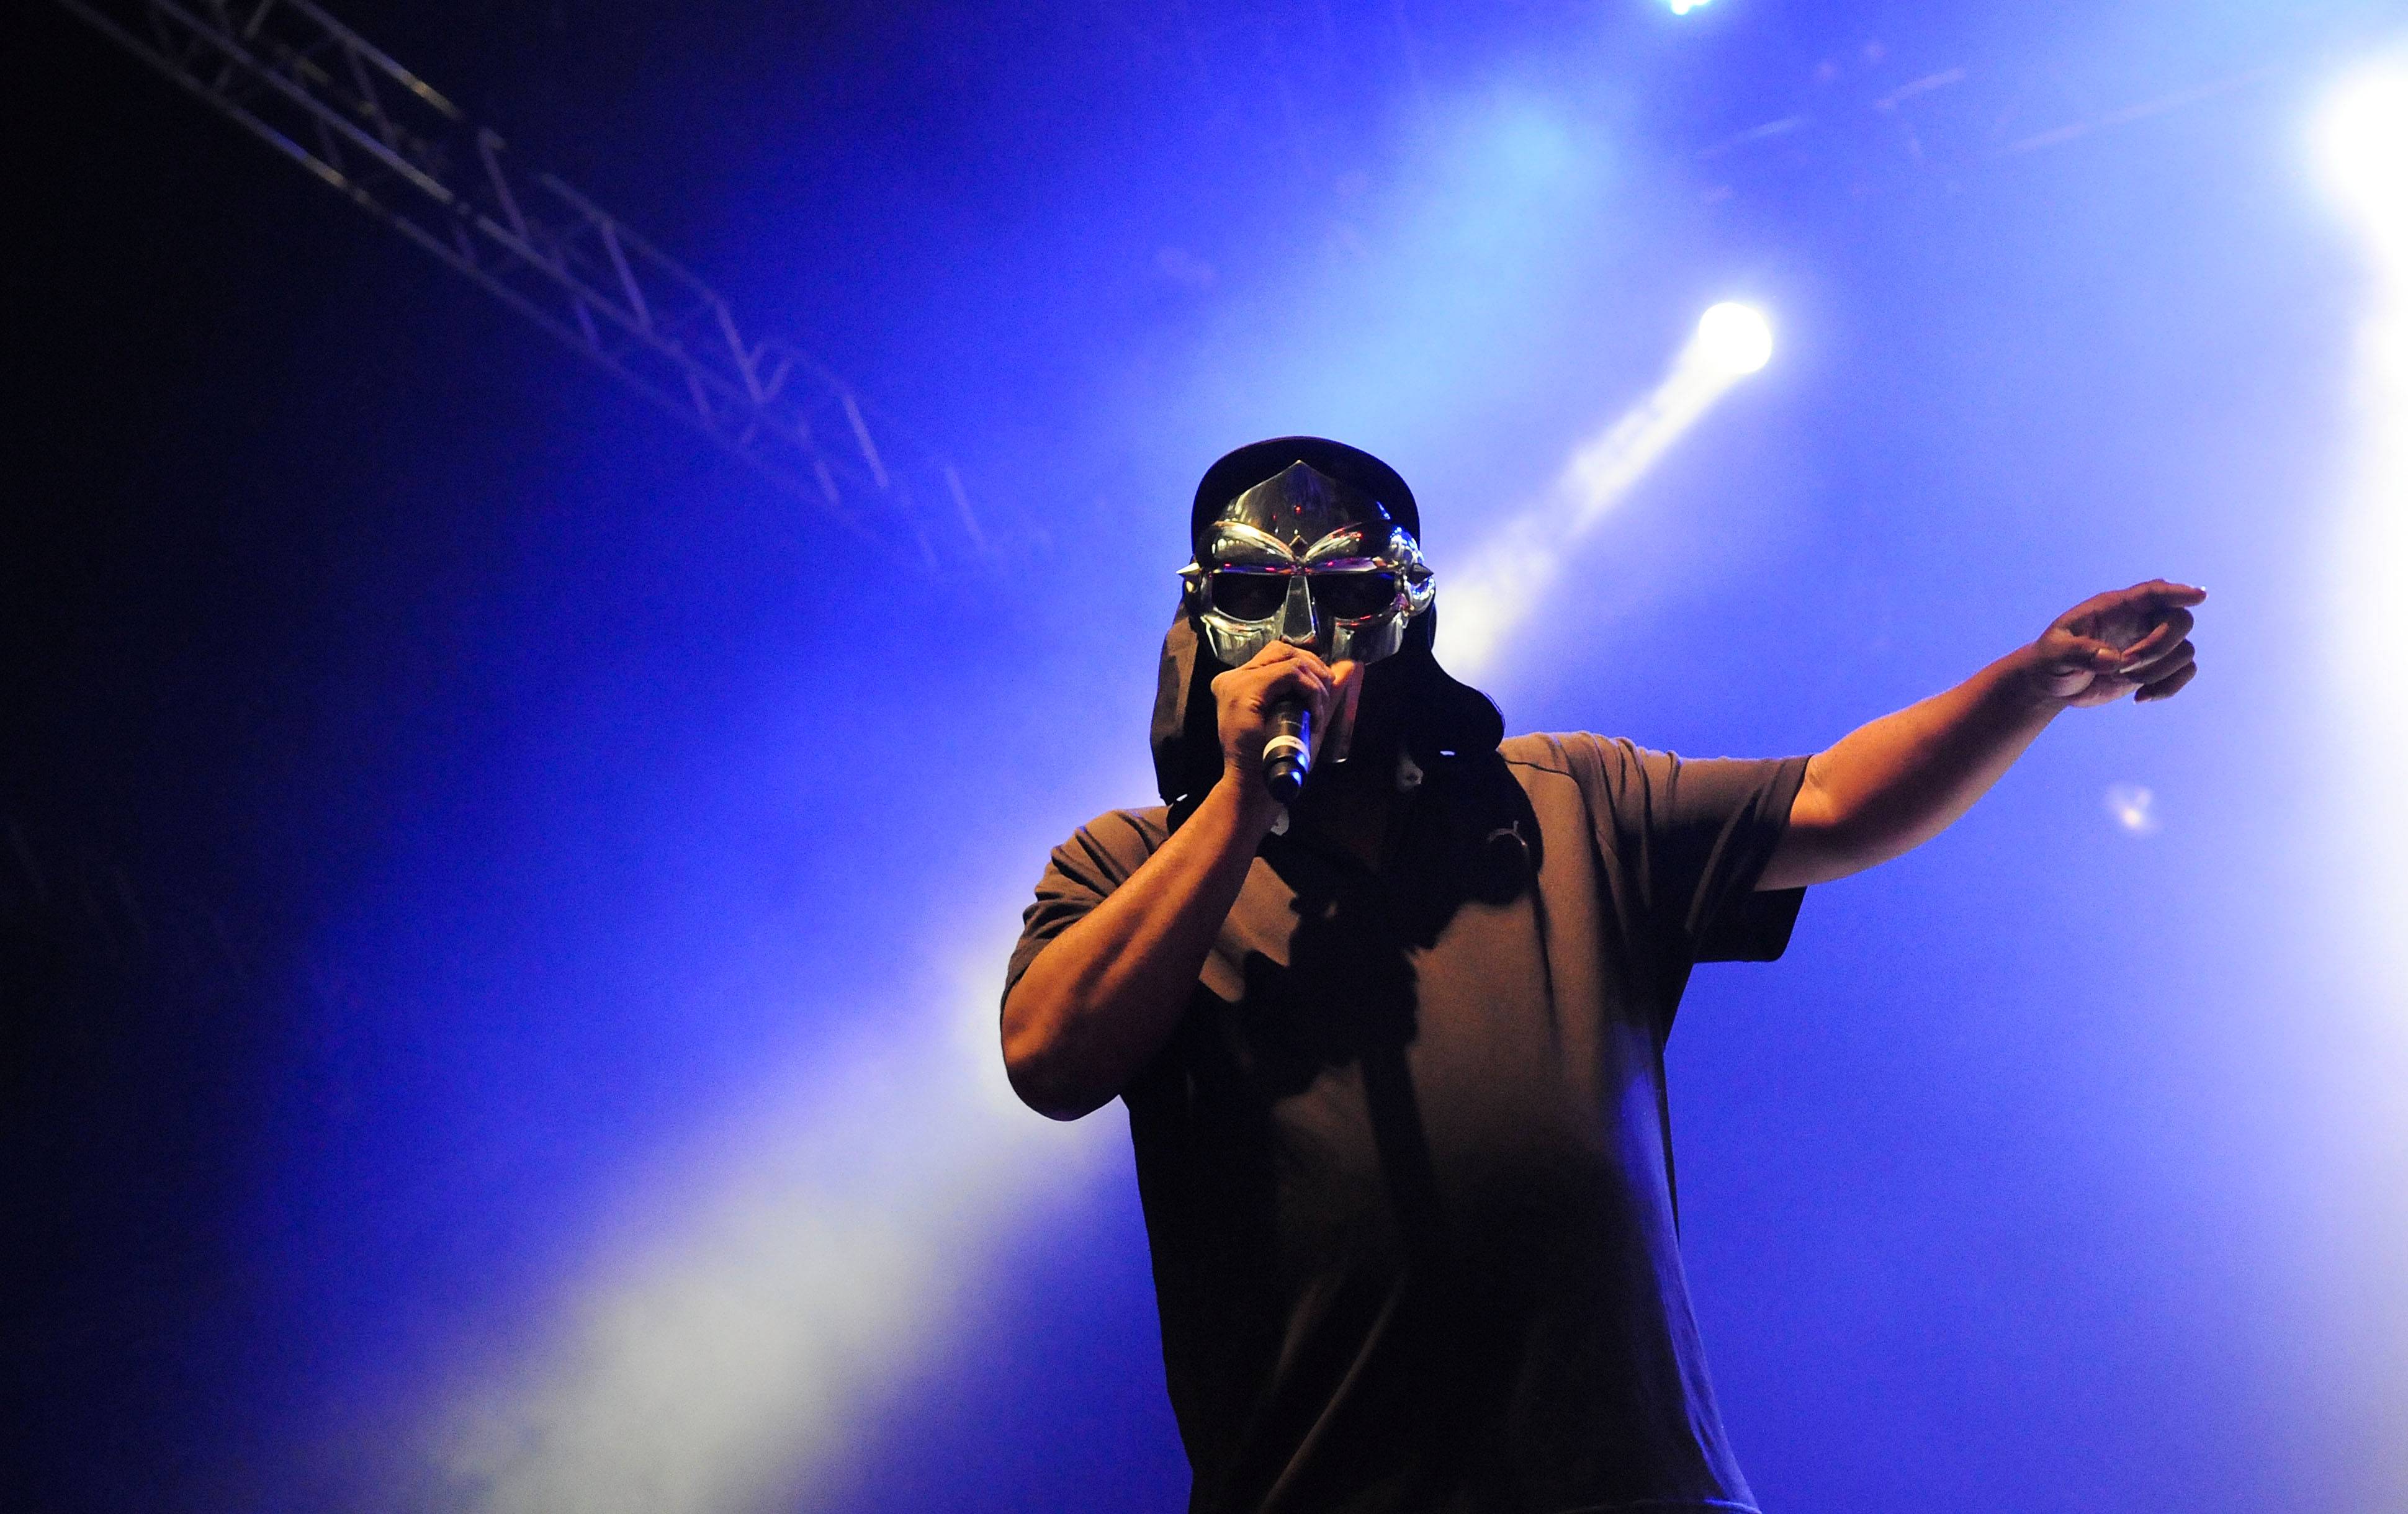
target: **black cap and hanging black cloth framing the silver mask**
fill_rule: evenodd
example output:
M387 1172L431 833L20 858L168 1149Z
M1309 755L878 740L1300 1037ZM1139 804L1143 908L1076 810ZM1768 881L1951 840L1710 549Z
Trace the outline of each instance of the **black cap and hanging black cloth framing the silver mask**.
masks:
M1373 496L1421 542L1421 505L1397 469L1370 453L1320 436L1276 436L1228 453L1197 484L1194 510L1187 518L1190 549L1204 537L1221 505L1255 484L1303 462ZM1438 667L1430 643L1438 633L1438 609L1416 616L1404 631L1404 647L1373 664L1382 700L1401 712L1404 749L1423 773L1440 773L1464 758L1486 758L1505 739L1505 717L1486 693L1454 681ZM1180 595L1180 609L1163 635L1163 664L1153 684L1153 782L1170 806L1178 828L1211 785L1221 777L1221 732L1211 700L1211 681L1221 662L1197 635L1192 592Z

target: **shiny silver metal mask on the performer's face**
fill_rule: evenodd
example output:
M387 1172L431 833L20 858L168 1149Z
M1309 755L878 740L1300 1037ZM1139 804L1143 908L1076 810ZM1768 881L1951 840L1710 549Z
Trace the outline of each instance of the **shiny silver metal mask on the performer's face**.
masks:
M1223 505L1180 578L1223 667L1274 640L1324 662L1377 662L1438 597L1413 534L1373 496L1303 462Z

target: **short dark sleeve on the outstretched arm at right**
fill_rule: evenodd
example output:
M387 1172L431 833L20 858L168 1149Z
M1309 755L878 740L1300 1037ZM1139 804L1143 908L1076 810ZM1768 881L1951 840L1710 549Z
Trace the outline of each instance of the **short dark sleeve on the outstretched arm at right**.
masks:
M1806 758L1681 758L1621 739L1563 737L1599 840L1666 951L1690 963L1770 963L1804 888L1758 893L1789 828Z

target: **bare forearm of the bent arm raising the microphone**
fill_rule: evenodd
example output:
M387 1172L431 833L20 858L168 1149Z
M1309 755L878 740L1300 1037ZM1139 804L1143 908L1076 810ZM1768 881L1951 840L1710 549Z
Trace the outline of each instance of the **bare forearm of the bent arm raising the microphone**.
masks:
M1076 1119L1161 1049L1274 806L1221 782L1129 881L1052 939L1004 1001L1004 1069L1028 1107Z

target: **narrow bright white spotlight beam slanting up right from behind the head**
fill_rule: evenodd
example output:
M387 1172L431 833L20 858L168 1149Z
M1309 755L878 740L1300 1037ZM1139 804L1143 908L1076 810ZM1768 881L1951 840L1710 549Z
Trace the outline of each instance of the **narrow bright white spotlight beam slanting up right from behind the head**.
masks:
M1606 518L1714 400L1772 361L1772 325L1753 306L1710 308L1671 373L1589 438L1548 496L1515 515L1445 578L1447 662L1479 679L1563 570L1563 554Z

